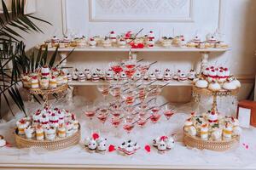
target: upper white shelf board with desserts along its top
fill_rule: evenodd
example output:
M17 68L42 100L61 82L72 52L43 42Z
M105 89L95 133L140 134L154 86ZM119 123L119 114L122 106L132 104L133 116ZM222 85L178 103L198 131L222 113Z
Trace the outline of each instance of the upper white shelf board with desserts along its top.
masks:
M39 48L39 47L37 47ZM96 48L74 48L76 52L226 52L229 51L231 48L178 48L178 47L170 47L170 48L163 48L160 46L155 46L154 48L103 48L103 47L96 47ZM73 48L59 48L59 52L70 52ZM48 48L48 51L55 51L55 48Z

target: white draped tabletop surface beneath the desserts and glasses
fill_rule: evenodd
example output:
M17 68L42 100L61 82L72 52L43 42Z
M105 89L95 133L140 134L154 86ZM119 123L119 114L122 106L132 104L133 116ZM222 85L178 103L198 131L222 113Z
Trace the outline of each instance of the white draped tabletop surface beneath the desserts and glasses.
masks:
M35 108L38 106L38 104L33 105ZM59 105L65 104L60 102ZM191 108L193 105L193 103L177 105L177 113L169 121L162 116L160 122L156 124L149 122L150 124L148 123L146 127L136 127L131 132L130 139L136 140L141 149L133 156L121 156L116 151L105 154L89 153L84 149L84 139L99 129L101 136L108 139L108 144L119 145L124 139L128 139L128 136L122 128L115 130L109 122L104 129L96 121L89 122L81 114L84 99L80 97L75 97L73 105L66 105L66 107L78 115L81 125L81 141L64 150L17 149L14 128L20 116L18 113L11 121L0 124L0 133L11 144L11 147L0 148L0 169L57 169L61 167L68 169L254 169L256 167L256 128L253 127L242 129L240 144L233 150L215 152L188 149L184 146L183 122L190 111L193 111ZM144 150L146 144L151 144L152 139L160 135L173 135L176 141L173 150L165 154L157 153L152 146L150 152Z

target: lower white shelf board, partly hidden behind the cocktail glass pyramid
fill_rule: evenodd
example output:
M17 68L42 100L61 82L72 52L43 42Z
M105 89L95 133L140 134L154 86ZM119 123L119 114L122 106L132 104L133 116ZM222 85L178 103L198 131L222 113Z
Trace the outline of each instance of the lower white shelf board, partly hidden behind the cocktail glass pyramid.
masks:
M191 81L182 81L182 82L177 82L175 80L171 80L168 81L169 84L167 86L192 86ZM166 83L165 81L156 81L154 83L152 83L152 85L165 85ZM102 81L100 80L99 82L92 82L92 81L85 81L85 82L79 82L79 81L72 81L72 82L68 82L68 85L70 86L95 86L95 85L99 85L99 84L107 84L109 82L107 81ZM150 83L150 81L148 81L147 83ZM141 84L141 82L137 82L137 84Z

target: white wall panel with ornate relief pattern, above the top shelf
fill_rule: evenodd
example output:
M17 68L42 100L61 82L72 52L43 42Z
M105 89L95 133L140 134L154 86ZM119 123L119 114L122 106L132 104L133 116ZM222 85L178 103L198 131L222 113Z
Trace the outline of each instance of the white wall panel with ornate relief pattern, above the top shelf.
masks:
M194 0L90 0L92 22L193 22Z

